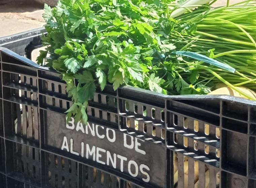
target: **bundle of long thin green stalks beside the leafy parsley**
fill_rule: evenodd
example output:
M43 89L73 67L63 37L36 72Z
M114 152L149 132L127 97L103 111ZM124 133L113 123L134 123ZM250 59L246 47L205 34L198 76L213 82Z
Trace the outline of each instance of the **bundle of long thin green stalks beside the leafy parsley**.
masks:
M209 56L236 69L234 73L230 73L206 66L203 62L184 60L188 66L200 73L200 83L216 85L223 82L241 95L256 100L236 87L256 89L255 5L256 2L245 1L244 4L218 8L199 7L176 18L183 25L183 37L176 33L171 35L180 38L178 45L182 46L181 50ZM191 27L196 29L192 34L186 34L186 30ZM184 78L189 76L182 69L179 72Z

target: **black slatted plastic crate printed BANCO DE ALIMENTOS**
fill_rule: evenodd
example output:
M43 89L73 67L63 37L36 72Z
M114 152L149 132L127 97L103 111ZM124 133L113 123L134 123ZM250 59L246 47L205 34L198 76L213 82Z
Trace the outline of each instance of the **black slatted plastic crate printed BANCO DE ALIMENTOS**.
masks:
M43 32L0 39L0 187L256 187L256 102L109 85L66 124L65 82L29 60Z

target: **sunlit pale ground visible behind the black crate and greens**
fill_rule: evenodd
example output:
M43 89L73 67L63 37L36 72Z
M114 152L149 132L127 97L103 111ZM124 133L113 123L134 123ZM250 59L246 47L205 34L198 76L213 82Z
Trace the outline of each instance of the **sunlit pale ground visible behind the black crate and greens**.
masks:
M230 3L241 0L230 0ZM225 5L226 0L219 0L215 6ZM0 37L42 27L43 5L33 0L0 0Z

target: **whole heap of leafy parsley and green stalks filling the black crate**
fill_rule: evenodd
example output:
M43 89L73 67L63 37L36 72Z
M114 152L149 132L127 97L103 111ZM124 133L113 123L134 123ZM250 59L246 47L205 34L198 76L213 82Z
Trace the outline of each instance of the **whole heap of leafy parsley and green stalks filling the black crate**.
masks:
M174 19L172 11L188 9L183 1L170 2L60 0L52 9L45 5L48 35L42 40L47 48L38 62L46 59L46 65L61 72L67 82L74 102L67 120L74 115L76 121L86 122L88 101L97 86L103 90L108 82L115 90L131 85L175 95L207 94L224 82L253 99L232 84L255 87L255 23L245 12L256 7L212 9L207 4ZM211 20L209 28L215 35L205 33ZM234 33L227 36L230 28Z

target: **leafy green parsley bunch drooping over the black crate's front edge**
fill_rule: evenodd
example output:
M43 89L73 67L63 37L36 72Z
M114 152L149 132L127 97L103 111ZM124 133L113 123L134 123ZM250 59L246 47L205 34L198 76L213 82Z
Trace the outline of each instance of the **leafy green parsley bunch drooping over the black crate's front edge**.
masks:
M190 25L182 27L182 22L167 18L169 2L59 0L54 8L44 6L46 50L37 60L46 61L67 82L73 101L67 121L75 116L86 123L88 101L98 85L101 90L111 83L114 90L131 85L164 94L191 93L182 88L194 84L198 72L182 77L178 70L193 72L195 67L186 68L182 58L172 54L182 47L172 31L188 35Z

